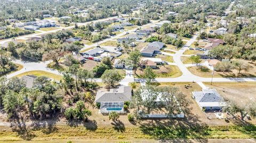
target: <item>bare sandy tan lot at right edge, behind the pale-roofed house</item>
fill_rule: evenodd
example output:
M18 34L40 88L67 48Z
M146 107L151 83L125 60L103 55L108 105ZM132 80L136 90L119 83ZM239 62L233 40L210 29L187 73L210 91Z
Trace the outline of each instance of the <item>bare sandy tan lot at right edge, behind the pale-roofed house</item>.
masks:
M205 86L216 89L223 97L233 99L241 105L256 102L256 82L205 82Z

